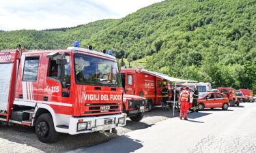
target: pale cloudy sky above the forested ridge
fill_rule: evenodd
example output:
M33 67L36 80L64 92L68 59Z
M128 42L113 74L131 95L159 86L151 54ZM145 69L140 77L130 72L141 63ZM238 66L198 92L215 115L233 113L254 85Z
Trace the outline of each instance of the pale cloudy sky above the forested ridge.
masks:
M0 30L75 27L122 18L163 0L1 0Z

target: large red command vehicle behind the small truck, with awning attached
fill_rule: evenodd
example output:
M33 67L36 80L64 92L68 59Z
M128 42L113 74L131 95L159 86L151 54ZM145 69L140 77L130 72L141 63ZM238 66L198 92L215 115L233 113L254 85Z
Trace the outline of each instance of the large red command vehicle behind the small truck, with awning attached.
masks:
M158 73L145 69L121 69L121 78L126 94L147 99L148 111L152 110L153 105L160 105L162 85L169 84L168 80L158 77Z

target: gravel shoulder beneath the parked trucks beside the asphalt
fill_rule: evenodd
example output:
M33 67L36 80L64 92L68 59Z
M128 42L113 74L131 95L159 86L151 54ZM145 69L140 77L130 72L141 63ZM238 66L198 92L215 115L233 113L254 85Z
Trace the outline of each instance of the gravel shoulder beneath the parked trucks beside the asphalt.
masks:
M154 109L145 113L141 122L132 122L129 118L126 126L117 128L117 134L113 133L87 133L80 135L59 135L56 143L46 144L38 140L35 129L27 126L13 124L11 126L1 126L0 128L0 152L67 152L81 147L94 146L119 137L130 131L147 129L154 126L156 122L172 117L171 111ZM177 114L175 114L177 115Z

